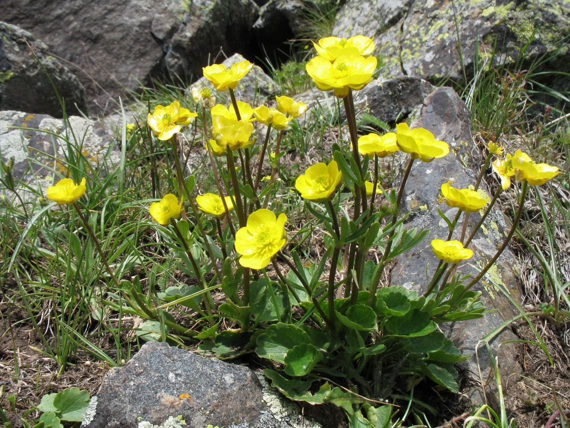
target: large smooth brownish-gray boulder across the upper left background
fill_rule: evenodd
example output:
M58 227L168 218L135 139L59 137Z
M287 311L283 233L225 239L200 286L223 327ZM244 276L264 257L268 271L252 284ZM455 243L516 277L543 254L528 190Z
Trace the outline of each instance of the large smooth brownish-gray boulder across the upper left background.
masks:
M222 50L247 54L252 0L5 0L6 22L33 31L86 87L91 112L109 113L150 78L201 75Z

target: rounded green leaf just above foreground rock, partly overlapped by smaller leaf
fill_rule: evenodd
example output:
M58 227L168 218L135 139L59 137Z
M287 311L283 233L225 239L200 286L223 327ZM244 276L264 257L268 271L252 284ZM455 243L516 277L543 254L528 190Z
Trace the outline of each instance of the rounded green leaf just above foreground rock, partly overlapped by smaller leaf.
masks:
M303 329L279 322L270 325L265 333L259 335L255 352L259 357L284 364L287 352L302 344L312 345L311 338Z

